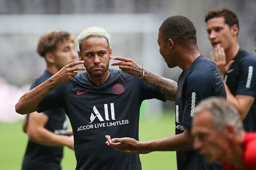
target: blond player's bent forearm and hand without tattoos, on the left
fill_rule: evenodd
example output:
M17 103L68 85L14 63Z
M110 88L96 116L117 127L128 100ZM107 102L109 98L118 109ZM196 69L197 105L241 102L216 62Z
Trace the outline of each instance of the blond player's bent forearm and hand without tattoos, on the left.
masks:
M19 114L28 114L38 110L38 104L40 101L57 85L72 80L74 76L77 75L76 71L86 69L85 67L75 67L76 65L82 63L83 61L74 61L64 66L44 83L28 91L15 105L16 112Z

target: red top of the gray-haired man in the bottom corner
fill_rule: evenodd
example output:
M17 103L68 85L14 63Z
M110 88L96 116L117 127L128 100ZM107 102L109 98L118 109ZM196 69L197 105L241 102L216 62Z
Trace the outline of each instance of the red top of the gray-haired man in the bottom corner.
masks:
M243 169L254 170L256 169L256 133L246 132L243 141L244 155L243 155ZM222 162L224 170L238 170L233 165Z

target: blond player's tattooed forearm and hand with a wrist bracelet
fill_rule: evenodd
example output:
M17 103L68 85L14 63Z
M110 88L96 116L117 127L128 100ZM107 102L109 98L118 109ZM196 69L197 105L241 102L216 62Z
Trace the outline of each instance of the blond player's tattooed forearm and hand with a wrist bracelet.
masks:
M177 83L175 81L159 76L146 69L144 70L143 76L142 66L138 65L132 59L124 57L114 57L114 59L120 60L121 62L114 62L111 65L118 65L123 72L134 77L142 78L143 81L151 84L160 91L165 96L165 99L175 101L177 90Z

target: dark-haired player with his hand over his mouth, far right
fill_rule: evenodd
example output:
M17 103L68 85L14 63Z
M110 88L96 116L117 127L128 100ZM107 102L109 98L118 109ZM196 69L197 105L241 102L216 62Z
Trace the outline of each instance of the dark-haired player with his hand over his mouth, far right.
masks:
M205 16L209 41L227 92L227 101L236 107L245 131L256 131L256 57L240 48L238 16L227 8L211 10Z

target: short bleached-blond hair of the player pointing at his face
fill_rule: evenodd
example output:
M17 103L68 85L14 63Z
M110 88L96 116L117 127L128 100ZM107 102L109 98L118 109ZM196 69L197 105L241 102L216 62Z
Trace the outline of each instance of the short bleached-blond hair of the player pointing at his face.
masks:
M108 45L110 47L110 34L108 34L106 30L100 27L89 27L83 30L77 36L77 44L79 45L80 51L81 51L82 41L88 38L93 38L93 37L104 38L106 42L108 42Z

